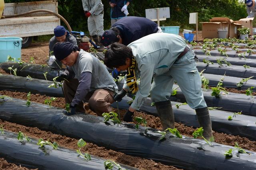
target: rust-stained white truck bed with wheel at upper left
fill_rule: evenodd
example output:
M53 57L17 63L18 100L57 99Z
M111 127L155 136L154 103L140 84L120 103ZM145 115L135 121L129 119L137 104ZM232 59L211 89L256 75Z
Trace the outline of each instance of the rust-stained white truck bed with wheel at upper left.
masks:
M57 0L46 0L5 3L3 16L22 14L32 10L50 10L58 14L58 2ZM53 34L57 25L60 25L60 18L46 12L16 18L3 18L0 19L0 37L22 37L22 48L26 48L31 44L33 37Z

